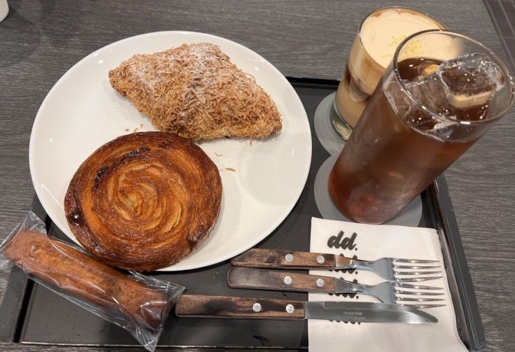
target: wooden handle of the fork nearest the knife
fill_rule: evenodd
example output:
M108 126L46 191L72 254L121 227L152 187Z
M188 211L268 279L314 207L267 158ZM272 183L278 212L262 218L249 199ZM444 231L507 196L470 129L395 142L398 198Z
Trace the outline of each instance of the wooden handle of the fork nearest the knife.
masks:
M334 278L281 270L230 268L227 283L232 288L334 293Z

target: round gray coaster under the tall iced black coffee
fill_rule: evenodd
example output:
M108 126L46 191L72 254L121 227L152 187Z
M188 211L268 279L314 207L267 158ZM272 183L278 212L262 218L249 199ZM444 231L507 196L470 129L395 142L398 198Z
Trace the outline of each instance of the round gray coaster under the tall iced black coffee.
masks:
M322 214L324 219L351 221L336 209L333 205L333 201L331 201L331 196L329 196L329 190L327 189L327 180L337 158L338 155L329 156L317 172L315 187L313 187L315 203L317 203L318 211ZM410 204L406 205L394 219L388 221L385 225L418 226L421 216L422 200L420 196L417 196L417 198L414 198Z

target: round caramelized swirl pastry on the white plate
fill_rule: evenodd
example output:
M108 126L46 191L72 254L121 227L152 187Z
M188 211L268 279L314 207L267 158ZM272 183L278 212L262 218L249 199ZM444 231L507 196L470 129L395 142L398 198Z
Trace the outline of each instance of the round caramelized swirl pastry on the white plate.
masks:
M108 142L80 165L64 212L95 257L150 271L186 257L209 235L221 197L218 168L200 147L141 132Z

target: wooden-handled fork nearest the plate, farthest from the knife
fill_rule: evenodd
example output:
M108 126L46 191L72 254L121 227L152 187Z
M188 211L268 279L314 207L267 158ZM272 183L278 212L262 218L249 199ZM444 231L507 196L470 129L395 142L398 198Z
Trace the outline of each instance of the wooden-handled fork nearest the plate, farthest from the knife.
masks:
M365 261L342 255L292 250L252 248L234 257L231 263L233 266L247 268L369 270L388 281L400 282L425 281L442 277L439 275L442 274L442 270L433 270L441 269L440 262L435 260L381 258ZM431 270L428 271L428 269Z

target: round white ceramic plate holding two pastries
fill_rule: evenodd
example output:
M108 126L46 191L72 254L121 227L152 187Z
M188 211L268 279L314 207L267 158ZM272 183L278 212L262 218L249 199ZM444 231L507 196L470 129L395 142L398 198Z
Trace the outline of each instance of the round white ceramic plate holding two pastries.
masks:
M162 270L202 268L234 257L267 237L297 202L311 163L311 132L302 102L286 78L263 57L234 41L192 32L148 33L116 41L82 59L53 86L37 112L30 136L30 174L44 209L73 241L77 242L64 216L63 201L79 165L117 136L134 129L155 130L148 118L112 89L108 71L136 53L195 42L217 44L239 68L251 73L277 104L283 129L252 144L248 139L199 143L222 169L220 217L197 250Z

